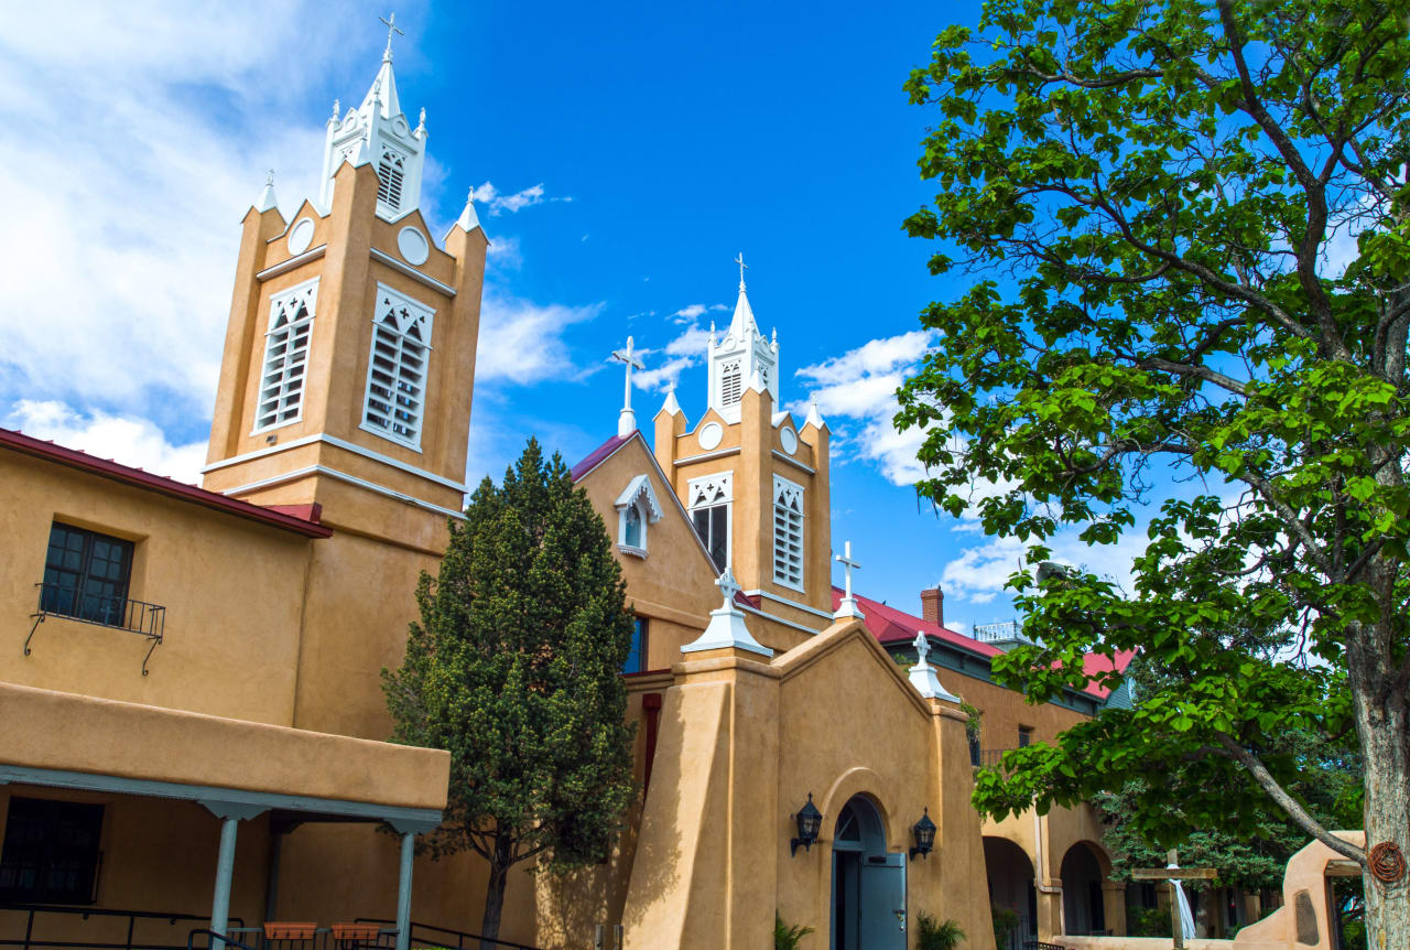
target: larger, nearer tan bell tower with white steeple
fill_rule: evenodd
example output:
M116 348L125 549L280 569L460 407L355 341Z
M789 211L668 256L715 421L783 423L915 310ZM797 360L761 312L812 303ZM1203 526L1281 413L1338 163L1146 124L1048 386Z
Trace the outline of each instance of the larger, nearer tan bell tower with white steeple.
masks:
M245 215L203 484L436 551L464 505L488 240L471 199L430 234L426 110L402 112L388 27L320 193L285 220L271 181Z

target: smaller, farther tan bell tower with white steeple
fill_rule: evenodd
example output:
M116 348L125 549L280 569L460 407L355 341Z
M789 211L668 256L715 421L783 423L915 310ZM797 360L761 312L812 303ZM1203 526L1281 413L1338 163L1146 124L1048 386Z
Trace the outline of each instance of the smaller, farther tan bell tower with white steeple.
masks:
M656 414L656 460L716 570L760 608L821 630L832 620L828 426L778 409L778 337L754 320L739 264L729 329L711 329L706 409L694 429L671 391ZM826 623L822 623L822 621Z

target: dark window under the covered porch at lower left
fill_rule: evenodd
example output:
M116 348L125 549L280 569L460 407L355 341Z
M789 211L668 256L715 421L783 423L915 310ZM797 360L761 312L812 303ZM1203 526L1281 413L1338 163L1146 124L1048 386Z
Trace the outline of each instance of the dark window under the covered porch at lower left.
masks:
M0 901L93 903L102 830L102 805L10 799Z

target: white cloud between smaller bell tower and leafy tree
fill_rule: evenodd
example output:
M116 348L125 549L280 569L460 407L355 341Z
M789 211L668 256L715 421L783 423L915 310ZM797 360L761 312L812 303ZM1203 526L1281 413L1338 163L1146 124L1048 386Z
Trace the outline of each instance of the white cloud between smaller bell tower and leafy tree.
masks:
M839 418L850 421L838 428L835 450L873 462L893 484L912 484L925 476L925 467L915 457L925 433L918 429L897 432L891 419L900 408L897 388L915 373L932 342L931 332L911 330L870 340L797 373L807 381L825 419L832 419L833 425ZM807 401L790 409L801 415L808 411Z

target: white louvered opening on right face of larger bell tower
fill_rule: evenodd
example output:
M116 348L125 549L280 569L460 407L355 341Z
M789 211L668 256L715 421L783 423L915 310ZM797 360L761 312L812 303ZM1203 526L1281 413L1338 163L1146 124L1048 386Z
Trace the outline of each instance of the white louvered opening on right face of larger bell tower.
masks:
M430 308L379 287L362 425L413 449L422 439L433 315Z

